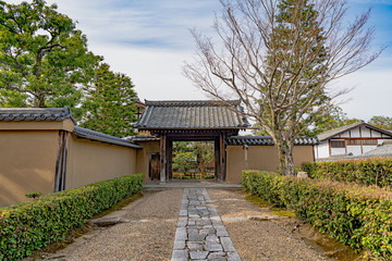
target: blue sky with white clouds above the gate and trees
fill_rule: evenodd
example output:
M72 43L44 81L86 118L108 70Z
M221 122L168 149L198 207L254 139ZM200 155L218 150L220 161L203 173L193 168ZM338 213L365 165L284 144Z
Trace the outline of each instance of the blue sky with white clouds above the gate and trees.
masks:
M211 35L219 0L47 0L54 2L59 12L77 21L89 50L103 55L112 71L132 78L142 101L208 99L183 76L182 66L195 53L189 29ZM368 24L376 28L373 48L388 48L372 64L331 88L353 88L340 98L347 100L341 108L348 117L392 116L392 0L347 3L352 17L372 9Z

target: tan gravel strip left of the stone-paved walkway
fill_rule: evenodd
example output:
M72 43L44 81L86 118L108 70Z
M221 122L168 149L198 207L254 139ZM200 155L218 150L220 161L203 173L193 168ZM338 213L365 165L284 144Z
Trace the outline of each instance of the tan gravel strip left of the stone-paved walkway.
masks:
M148 191L121 211L107 217L128 223L86 234L53 260L170 260L181 207L182 189Z

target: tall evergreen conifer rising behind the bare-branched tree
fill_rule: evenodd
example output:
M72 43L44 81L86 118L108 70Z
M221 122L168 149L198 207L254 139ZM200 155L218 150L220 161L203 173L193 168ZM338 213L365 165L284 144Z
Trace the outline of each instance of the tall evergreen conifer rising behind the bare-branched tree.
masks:
M317 17L318 13L308 0L281 0L275 16L277 28L270 35L267 75L272 80L265 86L265 91L275 97L264 108L264 117L271 123L266 130L281 151L282 173L286 169L289 173L295 173L294 139L331 108L331 99L318 83L324 77L318 77L319 71L315 70L326 71L322 67L328 59L323 46L326 38ZM310 107L304 113L303 108L307 104Z

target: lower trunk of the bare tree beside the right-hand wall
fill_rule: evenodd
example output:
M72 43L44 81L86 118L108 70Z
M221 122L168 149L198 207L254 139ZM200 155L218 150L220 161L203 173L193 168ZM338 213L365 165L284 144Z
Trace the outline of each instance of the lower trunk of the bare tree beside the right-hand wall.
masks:
M275 141L280 161L280 174L282 176L295 175L293 146L285 140Z

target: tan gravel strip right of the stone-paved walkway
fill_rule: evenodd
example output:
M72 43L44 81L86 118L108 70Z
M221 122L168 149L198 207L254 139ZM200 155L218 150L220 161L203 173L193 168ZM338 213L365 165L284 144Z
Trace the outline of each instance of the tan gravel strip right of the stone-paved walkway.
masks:
M247 215L266 215L271 212L248 202L241 190L209 189L208 194L242 260L324 260L273 221L247 220Z

